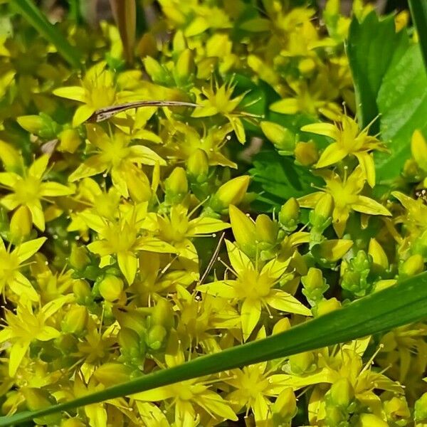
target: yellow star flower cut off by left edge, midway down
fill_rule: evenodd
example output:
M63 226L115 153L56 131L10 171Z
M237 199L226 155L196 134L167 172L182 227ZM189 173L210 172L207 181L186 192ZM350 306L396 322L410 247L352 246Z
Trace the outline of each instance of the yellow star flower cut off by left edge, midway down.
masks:
M38 294L31 285L31 282L19 271L23 267L22 263L31 258L43 243L46 237L21 243L13 251L6 249L4 242L0 238L0 291L8 285L10 290L19 297L28 297L31 301L38 301Z

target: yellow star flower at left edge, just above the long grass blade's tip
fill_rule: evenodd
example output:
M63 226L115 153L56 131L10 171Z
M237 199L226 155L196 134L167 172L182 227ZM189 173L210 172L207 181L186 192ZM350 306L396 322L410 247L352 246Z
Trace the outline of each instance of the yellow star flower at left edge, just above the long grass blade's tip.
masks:
M7 326L0 331L0 342L10 342L9 375L14 376L16 369L22 362L31 342L34 340L48 341L59 337L60 332L48 325L51 317L60 310L64 304L73 300L73 295L65 295L57 300L48 302L34 314L31 303L27 300L21 302L16 310L16 315L6 311Z

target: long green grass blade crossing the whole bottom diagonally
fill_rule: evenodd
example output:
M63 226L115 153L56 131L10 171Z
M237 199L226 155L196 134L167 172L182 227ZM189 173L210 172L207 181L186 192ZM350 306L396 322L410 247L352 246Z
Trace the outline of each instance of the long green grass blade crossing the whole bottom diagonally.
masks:
M266 339L209 354L176 367L162 369L125 384L43 408L0 417L1 426L30 421L58 411L128 396L166 384L215 374L248 364L290 356L340 342L391 330L427 317L427 272L352 302L340 310L310 320Z

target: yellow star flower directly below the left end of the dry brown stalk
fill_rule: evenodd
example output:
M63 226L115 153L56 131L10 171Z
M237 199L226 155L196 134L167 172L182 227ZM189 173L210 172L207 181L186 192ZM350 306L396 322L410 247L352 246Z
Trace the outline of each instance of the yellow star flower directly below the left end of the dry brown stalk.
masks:
M130 137L118 130L110 137L102 127L88 125L88 140L95 147L96 154L86 159L70 174L70 182L108 172L111 174L112 184L122 196L127 197L135 175L143 174L135 164L166 164L152 149L130 144Z

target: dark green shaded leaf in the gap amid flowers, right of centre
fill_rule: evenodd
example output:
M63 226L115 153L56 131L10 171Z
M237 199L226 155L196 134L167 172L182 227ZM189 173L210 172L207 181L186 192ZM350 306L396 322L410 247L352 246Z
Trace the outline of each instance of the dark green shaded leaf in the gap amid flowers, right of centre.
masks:
M266 142L268 144L268 142ZM253 159L253 169L249 171L253 181L260 184L264 198L278 199L283 204L290 197L301 197L316 191L312 184L323 185L323 180L313 175L310 169L298 166L293 157L283 157L273 149L263 149Z

